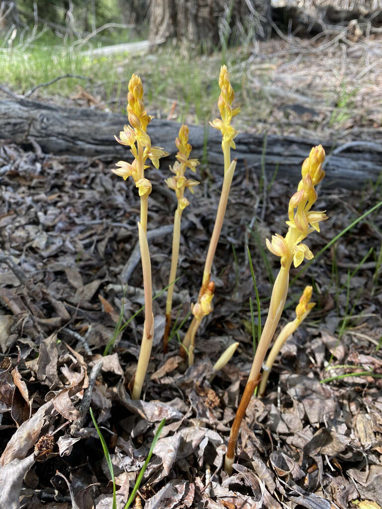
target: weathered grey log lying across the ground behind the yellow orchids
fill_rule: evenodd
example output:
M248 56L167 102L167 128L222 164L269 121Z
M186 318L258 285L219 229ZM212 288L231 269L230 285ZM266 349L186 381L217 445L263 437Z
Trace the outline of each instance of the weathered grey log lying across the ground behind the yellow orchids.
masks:
M0 140L28 144L34 139L45 153L67 154L81 157L101 157L105 161L117 161L131 157L127 147L116 143L114 134L127 122L124 115L110 114L94 109L63 108L29 100L0 101ZM170 153L168 161L174 161L175 138L179 124L153 119L149 125L152 144ZM223 164L221 134L210 128L206 133L202 126L190 126L189 142L194 147L193 157L202 159L203 154L211 171ZM262 135L240 133L235 139L237 168L261 171ZM357 188L367 181L376 181L382 168L382 146L365 142L352 142L341 147L330 140L301 139L291 136L268 136L266 140L265 169L273 174L278 164L278 177L297 181L301 164L314 145L321 143L329 157L326 160L325 185Z

